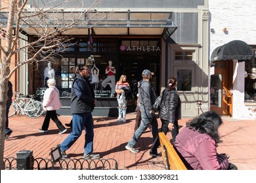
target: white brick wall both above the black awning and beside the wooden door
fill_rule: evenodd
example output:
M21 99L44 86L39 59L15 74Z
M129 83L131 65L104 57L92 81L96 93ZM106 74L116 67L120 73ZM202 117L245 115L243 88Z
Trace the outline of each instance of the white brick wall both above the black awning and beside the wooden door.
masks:
M209 0L210 54L218 46L233 40L241 40L247 44L256 44L256 0ZM226 27L227 33L223 28ZM236 63L236 61L234 61ZM255 119L250 106L244 103L244 62L238 63L237 75L233 83L233 118ZM236 64L234 64L234 71Z

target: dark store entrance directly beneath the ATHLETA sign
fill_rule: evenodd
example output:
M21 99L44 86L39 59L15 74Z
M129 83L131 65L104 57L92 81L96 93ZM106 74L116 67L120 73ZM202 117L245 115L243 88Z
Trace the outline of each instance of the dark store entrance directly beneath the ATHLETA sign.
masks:
M127 80L133 90L134 99L128 101L127 112L135 112L137 101L137 84L141 80L141 73L144 69L148 69L154 73L152 76L152 87L156 95L160 93L160 54L123 54L120 56L119 76L126 75ZM118 80L119 78L117 78Z

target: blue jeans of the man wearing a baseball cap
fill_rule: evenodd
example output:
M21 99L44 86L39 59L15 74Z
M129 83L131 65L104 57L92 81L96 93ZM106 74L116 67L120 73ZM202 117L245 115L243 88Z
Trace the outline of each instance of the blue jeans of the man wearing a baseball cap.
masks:
M137 141L139 140L142 133L146 130L149 124L152 125L152 135L153 135L153 142L158 137L158 121L156 120L155 114L150 114L150 110L147 111L140 111L141 113L141 121L139 128L135 131L133 137L128 142L128 146L133 148Z

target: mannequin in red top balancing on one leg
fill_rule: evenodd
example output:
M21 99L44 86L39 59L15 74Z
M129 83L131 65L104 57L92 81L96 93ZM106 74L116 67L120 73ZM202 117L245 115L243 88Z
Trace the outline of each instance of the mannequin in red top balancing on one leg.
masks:
M116 93L116 67L112 66L112 61L108 61L108 67L106 67L106 74L108 75L103 81L102 86L106 88L108 82L111 82L111 95L110 97L115 97Z

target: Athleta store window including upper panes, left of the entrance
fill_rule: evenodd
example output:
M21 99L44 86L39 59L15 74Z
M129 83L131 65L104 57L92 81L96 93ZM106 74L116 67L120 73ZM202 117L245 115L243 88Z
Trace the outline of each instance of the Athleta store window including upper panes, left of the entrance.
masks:
M61 56L56 56L51 62L42 61L35 65L33 70L35 93L43 97L48 87L47 80L55 78L60 97L70 97L72 82L75 78L75 66L85 64L91 70L89 82L93 85L95 97L113 97L116 94L117 78L116 74L114 76L106 75L106 68L112 61L112 67L118 71L116 39L95 39L92 48L97 52L89 52L86 40L77 41L77 44L69 46L64 52L61 52ZM108 80L109 78L113 79Z

